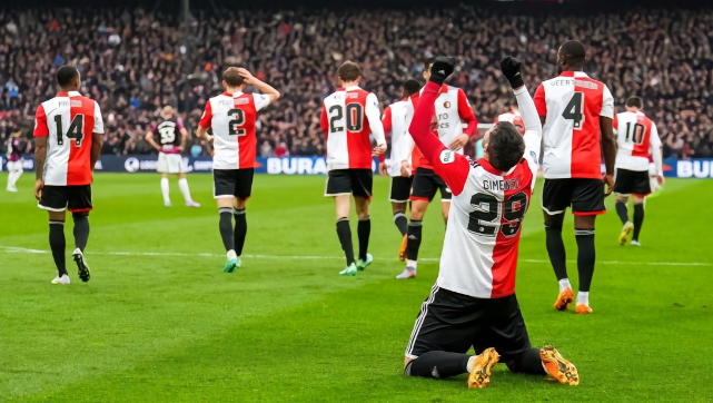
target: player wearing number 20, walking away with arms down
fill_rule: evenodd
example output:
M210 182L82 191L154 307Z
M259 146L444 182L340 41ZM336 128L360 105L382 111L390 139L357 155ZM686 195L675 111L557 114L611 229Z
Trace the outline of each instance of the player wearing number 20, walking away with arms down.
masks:
M344 250L347 266L341 275L354 276L368 266L369 254L369 200L372 199L372 156L386 151L384 127L379 104L374 92L359 88L362 69L353 61L345 61L337 71L341 85L325 98L321 106L321 130L327 138L327 186L325 197L334 197L337 212L337 236ZM369 135L374 135L376 147L372 148ZM359 219L358 261L354 258L351 228L349 227L349 197Z

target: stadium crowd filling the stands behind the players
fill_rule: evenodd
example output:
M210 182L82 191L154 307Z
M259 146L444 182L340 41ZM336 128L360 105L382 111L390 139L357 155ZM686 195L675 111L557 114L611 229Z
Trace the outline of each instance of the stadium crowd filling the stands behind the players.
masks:
M3 8L0 151L11 132L31 136L34 108L57 92L55 72L65 63L79 68L83 94L101 105L105 154L152 153L143 135L164 105L176 107L192 132L206 99L221 91L222 69L242 66L283 94L259 116L258 154L320 155L321 98L333 91L345 60L360 63L363 87L385 107L398 99L403 80L420 78L429 45L437 43L462 62L452 83L465 89L481 122L492 122L508 109L507 82L494 60L504 53L523 59L534 91L557 73L557 46L573 38L587 45L585 69L608 85L617 106L628 96L644 97L664 155L713 157L713 9L597 16L498 10L208 8L192 10L186 27L175 11Z

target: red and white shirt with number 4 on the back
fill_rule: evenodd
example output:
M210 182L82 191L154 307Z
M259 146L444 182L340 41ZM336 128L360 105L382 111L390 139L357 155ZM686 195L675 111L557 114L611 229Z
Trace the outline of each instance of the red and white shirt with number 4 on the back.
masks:
M535 106L545 116L545 178L602 178L600 117L614 117L614 97L583 71L564 71L543 81Z

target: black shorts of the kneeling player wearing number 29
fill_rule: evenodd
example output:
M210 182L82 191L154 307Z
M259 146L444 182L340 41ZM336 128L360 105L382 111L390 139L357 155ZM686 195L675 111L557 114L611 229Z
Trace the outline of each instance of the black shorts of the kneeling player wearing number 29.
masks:
M503 298L474 298L439 288L420 307L406 356L416 358L429 351L475 354L495 347L503 362L531 348L525 321L515 294Z

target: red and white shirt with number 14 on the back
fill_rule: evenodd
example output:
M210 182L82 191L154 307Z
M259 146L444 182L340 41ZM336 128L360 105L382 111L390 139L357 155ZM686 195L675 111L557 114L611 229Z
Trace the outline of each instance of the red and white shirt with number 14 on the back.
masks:
M34 137L48 137L44 185L91 184L95 132L103 134L99 104L77 91L61 91L37 108Z

